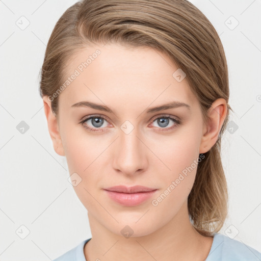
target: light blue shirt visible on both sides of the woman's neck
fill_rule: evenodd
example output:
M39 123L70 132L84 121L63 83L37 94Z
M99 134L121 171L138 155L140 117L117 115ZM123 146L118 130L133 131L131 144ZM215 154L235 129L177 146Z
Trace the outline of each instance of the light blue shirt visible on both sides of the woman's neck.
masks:
M69 250L54 261L86 261L84 245L90 239ZM205 261L261 261L261 253L243 242L214 233L213 243Z

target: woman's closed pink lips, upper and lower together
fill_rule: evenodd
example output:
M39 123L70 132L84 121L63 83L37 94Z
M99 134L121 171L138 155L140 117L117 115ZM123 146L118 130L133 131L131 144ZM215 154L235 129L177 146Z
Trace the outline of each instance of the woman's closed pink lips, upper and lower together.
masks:
M149 199L158 189L143 186L115 186L104 190L114 201L125 206L136 206Z

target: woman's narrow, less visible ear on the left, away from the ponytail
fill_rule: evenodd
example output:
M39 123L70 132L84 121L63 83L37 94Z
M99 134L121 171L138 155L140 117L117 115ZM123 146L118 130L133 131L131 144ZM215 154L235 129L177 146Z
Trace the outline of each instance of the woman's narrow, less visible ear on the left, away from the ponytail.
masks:
M43 96L44 112L47 119L49 134L53 141L54 149L60 156L65 156L62 139L59 132L59 124L57 116L51 110L51 101L48 96Z

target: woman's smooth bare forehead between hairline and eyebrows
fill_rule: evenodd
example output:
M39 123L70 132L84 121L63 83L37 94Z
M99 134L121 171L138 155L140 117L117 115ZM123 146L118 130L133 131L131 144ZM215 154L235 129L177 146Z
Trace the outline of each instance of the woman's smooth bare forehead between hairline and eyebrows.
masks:
M65 79L76 76L61 96L70 104L90 96L108 102L117 98L123 105L131 100L147 106L166 99L197 102L186 77L176 80L179 70L166 54L151 47L96 44L77 50L68 61Z

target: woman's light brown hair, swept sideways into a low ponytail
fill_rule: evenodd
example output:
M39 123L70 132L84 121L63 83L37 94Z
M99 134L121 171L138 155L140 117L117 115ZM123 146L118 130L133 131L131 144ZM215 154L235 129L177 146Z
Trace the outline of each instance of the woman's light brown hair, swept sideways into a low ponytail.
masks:
M68 8L49 38L41 70L40 95L52 96L64 82L66 63L91 43L150 46L186 73L200 102L204 124L217 98L228 102L228 70L221 40L211 22L186 0L85 0ZM58 115L58 98L51 102ZM227 216L227 184L221 162L221 136L198 163L188 197L191 223L204 236L220 230Z

